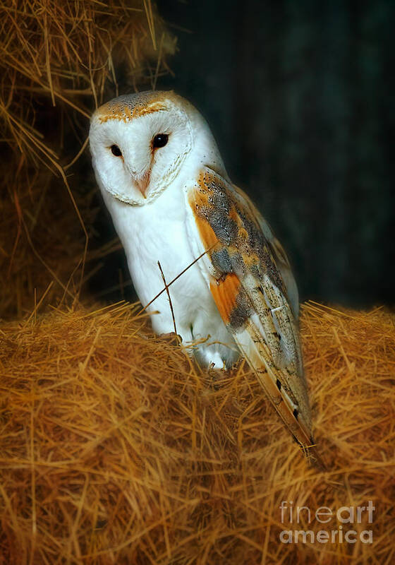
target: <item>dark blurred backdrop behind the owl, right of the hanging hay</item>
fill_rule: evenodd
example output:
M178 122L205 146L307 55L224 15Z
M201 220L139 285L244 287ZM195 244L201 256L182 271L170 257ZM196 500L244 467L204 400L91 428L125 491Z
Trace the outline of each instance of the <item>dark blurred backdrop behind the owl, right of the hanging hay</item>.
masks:
M179 51L157 88L206 117L231 179L288 251L300 298L394 305L395 1L158 7ZM122 254L111 261L107 277L125 268Z

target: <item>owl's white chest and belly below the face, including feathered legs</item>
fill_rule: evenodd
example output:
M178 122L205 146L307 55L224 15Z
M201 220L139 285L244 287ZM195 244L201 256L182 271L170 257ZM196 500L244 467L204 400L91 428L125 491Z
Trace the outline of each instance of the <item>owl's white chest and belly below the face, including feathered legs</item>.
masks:
M146 206L129 206L107 191L102 193L125 249L133 285L145 306L164 288L158 261L166 283L170 283L196 258L188 239L182 189L169 186ZM205 364L214 362L219 367L223 362L231 364L238 355L236 344L221 320L197 263L171 284L169 292L176 331L183 343L207 338L199 347L197 357L200 361ZM174 331L166 292L154 300L149 311L156 333Z

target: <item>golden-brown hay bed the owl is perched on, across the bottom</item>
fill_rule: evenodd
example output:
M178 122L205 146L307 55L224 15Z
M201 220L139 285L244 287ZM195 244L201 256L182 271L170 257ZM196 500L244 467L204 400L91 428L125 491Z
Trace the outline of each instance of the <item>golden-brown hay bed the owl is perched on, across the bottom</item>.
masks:
M394 316L303 307L315 435L306 465L243 363L200 371L138 307L3 323L1 556L13 564L394 562ZM284 544L281 501L375 505L373 544Z

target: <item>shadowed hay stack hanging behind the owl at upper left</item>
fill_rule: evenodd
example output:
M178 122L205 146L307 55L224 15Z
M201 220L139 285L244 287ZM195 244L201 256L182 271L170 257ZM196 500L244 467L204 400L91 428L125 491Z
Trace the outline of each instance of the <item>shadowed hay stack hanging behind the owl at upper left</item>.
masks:
M80 290L96 187L88 155L68 165L95 107L154 88L174 51L151 0L0 3L0 316Z

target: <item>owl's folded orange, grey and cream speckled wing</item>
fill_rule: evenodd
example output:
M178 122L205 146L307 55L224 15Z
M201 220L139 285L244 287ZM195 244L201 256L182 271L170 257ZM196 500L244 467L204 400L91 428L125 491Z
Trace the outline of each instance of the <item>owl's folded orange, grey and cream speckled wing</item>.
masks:
M189 208L188 208L189 206ZM188 232L229 329L281 420L312 461L312 422L296 322L296 284L282 247L240 189L202 169L188 191Z

